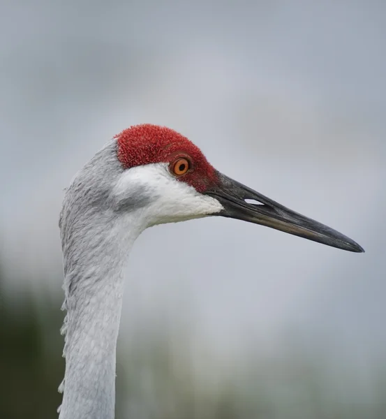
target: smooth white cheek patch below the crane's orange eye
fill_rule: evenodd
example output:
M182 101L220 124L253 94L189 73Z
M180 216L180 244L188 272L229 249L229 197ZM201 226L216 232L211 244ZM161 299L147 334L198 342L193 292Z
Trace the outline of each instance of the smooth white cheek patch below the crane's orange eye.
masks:
M114 186L113 196L123 208L142 207L149 225L194 219L223 210L215 198L175 179L168 163L125 170Z

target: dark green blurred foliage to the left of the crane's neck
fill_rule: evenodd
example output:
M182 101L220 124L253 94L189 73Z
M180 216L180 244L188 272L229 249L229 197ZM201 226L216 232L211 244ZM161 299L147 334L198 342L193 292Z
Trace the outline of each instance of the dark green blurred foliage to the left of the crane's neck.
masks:
M59 327L62 313L29 295L6 297L0 273L0 418L54 418L64 375ZM45 318L46 321L41 321ZM47 337L56 337L47 341Z

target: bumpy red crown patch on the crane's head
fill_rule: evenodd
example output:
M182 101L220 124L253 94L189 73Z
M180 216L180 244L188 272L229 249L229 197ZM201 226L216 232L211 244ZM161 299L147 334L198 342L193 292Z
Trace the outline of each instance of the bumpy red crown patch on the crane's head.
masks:
M118 159L125 169L150 163L168 163L179 153L191 156L194 170L180 180L200 192L216 181L216 170L201 150L188 138L165 126L142 124L131 126L115 136Z

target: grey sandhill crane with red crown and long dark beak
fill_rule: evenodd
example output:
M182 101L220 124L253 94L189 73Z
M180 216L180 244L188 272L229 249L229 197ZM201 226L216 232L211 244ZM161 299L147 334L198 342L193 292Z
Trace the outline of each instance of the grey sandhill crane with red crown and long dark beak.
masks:
M60 419L114 418L122 271L135 239L156 224L209 215L364 251L332 228L222 175L170 128L143 124L122 131L77 173L61 210L67 314Z

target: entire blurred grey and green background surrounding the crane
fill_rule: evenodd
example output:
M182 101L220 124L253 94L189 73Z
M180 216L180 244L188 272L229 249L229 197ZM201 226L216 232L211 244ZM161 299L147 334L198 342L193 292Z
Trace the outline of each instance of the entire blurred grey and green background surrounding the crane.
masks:
M385 3L3 0L0 28L0 418L57 417L63 189L151 122L366 253L221 217L147 230L117 418L385 419Z

